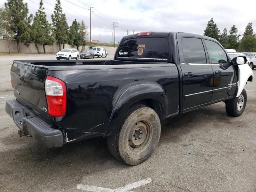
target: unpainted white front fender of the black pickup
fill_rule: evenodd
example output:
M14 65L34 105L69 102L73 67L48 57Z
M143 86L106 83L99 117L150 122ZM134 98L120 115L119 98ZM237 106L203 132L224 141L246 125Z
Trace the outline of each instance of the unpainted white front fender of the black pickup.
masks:
M240 96L246 82L248 80L252 81L252 79L253 79L253 72L250 66L248 64L238 65L238 82L237 82L238 91L237 91L236 97Z

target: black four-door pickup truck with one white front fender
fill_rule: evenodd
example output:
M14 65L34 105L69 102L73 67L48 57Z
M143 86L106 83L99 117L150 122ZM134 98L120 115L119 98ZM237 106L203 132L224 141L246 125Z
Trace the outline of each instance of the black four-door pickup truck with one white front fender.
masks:
M165 118L220 101L241 115L253 78L245 63L206 36L138 33L122 38L114 60L15 60L6 112L20 136L44 146L105 136L114 157L136 165L156 148Z

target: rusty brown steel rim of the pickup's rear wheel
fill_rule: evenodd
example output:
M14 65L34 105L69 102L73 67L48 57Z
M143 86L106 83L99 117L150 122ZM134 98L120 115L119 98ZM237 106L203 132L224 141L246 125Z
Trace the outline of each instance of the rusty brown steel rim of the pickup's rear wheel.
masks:
M152 140L152 130L152 124L146 120L134 124L128 136L128 145L132 152L139 153L148 148Z

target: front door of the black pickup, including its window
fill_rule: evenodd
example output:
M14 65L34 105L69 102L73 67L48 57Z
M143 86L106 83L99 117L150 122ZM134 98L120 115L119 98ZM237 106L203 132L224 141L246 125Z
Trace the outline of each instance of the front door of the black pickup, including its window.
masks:
M213 94L210 102L233 96L237 87L237 74L234 66L229 63L226 52L217 42L204 39L204 43L214 74Z

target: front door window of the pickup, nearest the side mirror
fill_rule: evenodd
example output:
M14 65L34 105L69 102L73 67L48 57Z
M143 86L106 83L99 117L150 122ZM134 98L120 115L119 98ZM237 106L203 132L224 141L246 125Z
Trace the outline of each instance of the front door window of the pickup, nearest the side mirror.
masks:
M228 63L226 53L219 44L210 40L204 40L204 42L212 63Z

